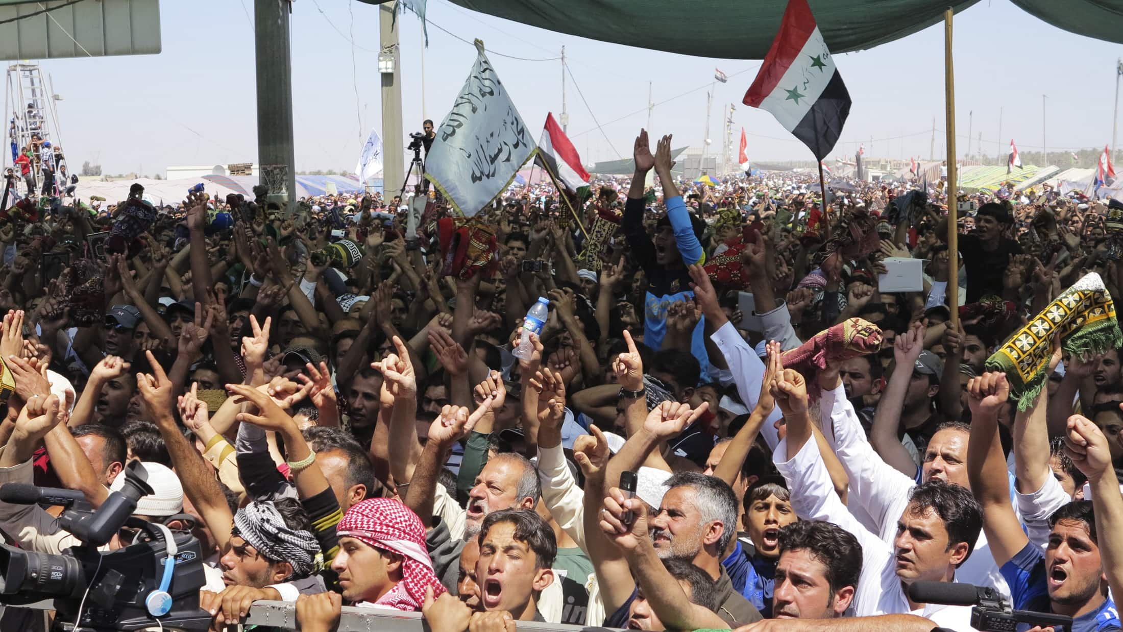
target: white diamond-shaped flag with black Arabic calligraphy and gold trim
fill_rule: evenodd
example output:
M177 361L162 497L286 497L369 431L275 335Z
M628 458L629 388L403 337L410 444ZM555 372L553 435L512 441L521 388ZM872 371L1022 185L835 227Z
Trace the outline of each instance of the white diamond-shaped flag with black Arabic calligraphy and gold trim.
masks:
M537 150L478 39L476 51L472 74L426 158L426 177L468 217L502 193Z

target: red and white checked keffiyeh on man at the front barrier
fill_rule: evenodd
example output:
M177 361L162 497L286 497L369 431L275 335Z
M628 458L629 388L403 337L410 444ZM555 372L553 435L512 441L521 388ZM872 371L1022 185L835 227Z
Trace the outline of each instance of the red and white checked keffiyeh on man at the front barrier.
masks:
M401 555L402 580L372 605L407 612L421 610L426 588L433 597L444 594L445 586L432 571L432 560L424 546L421 519L399 501L367 498L351 505L339 521L336 533L355 538L372 547Z

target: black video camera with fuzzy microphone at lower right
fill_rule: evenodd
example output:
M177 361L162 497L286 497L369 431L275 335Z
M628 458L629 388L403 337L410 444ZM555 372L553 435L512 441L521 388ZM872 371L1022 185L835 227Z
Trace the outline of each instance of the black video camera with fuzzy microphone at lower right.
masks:
M1013 610L1010 599L990 587L958 581L913 581L909 586L909 598L919 604L973 606L971 628L979 632L1014 632L1020 624L1072 629L1071 616Z

